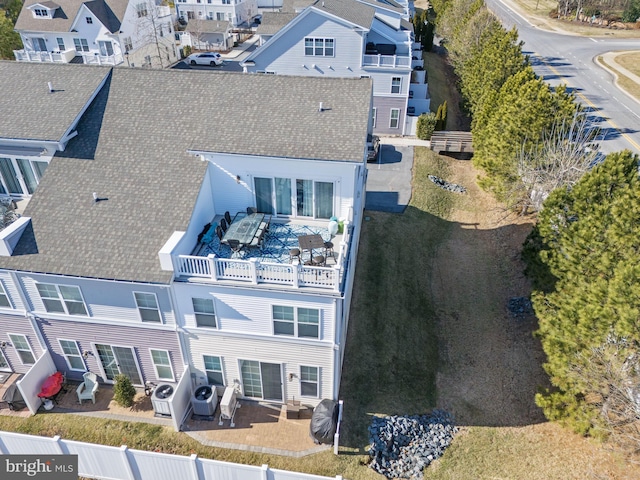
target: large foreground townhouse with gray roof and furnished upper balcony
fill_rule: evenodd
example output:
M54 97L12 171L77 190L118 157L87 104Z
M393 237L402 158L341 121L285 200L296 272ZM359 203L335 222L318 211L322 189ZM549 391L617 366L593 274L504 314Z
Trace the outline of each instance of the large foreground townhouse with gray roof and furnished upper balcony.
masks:
M74 68L38 67L52 78ZM0 79L33 66L7 68ZM91 370L101 382L124 373L180 388L186 378L281 403L337 398L371 81L110 70L30 199L14 248L0 252L6 368L29 367L31 358L14 366L28 357L15 334L31 326L34 359L46 351L72 379ZM79 96L77 76L57 81L50 98ZM177 125L176 105L189 112ZM247 207L271 216L271 243L240 255L217 238L199 243L205 224ZM328 265L292 262L292 232L329 240L334 216L344 229Z

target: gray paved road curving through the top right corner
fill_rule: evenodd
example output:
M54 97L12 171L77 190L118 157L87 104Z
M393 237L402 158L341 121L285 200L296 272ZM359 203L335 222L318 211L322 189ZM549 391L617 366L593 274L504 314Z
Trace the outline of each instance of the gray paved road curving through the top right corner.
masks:
M506 28L515 26L538 75L549 84L568 85L593 112L605 139L602 151L630 149L640 153L640 103L614 84L611 72L596 59L610 51L640 50L640 39L590 38L562 35L534 27L508 2L486 0Z

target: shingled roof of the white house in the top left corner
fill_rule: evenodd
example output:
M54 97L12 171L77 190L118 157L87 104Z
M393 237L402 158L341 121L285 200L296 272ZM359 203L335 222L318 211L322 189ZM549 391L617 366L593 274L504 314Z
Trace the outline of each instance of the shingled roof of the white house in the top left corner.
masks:
M16 21L16 30L34 32L68 32L71 30L71 25L73 25L73 22L78 15L78 10L80 10L80 7L85 2L82 0L57 0L56 3L59 5L59 8L56 10L54 18L34 18L31 11L27 10L27 7L37 3L41 2L38 0L25 0L22 10L20 11L20 15L18 16L18 20ZM103 15L102 13L98 14L96 12L107 12L110 10L113 13L113 16L115 16L119 22L122 22L129 0L93 0L87 3L94 4L91 10L107 28L111 29L114 28L114 21L113 18L111 18L111 15ZM98 7L96 5L98 3L106 3L106 6ZM116 32L117 29L111 31Z

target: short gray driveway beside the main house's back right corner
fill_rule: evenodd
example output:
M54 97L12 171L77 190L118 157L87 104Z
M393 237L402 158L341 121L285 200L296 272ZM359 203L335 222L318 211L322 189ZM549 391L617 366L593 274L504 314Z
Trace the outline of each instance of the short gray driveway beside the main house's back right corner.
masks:
M406 138L381 137L376 163L368 163L365 209L402 213L411 199L413 145Z

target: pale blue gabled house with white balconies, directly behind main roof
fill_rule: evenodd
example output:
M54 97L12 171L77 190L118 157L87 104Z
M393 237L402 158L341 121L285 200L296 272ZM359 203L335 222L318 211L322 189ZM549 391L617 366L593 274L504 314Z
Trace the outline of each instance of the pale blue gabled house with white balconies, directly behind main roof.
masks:
M244 60L244 71L371 77L374 132L413 133L417 115L429 111L429 102L426 84L413 75L414 68L422 69L422 60L413 43L409 7L360 0L303 5L291 3L284 13L264 13L257 30L261 46Z

